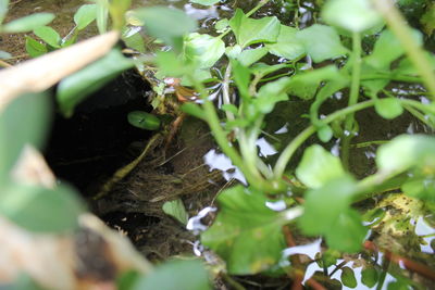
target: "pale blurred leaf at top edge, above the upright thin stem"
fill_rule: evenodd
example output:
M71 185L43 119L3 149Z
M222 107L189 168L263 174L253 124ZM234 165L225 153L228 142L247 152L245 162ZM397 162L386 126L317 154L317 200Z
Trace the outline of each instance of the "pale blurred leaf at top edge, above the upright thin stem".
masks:
M322 9L322 18L353 33L368 30L383 22L370 0L330 0Z

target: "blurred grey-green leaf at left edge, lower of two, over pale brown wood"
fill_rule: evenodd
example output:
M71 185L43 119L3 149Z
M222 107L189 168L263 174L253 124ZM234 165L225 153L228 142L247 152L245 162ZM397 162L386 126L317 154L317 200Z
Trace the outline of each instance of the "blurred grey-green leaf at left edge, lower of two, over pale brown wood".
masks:
M48 189L12 184L0 196L0 213L16 225L37 232L65 232L78 227L84 212L76 193L65 186Z

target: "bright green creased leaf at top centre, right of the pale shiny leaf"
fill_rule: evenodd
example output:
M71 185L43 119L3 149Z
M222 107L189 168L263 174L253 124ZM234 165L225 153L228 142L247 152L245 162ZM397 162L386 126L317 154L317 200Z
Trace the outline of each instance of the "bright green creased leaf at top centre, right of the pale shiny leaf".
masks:
M247 17L240 9L237 9L229 20L229 26L241 48L258 42L275 42L281 28L279 21L275 16L252 20Z

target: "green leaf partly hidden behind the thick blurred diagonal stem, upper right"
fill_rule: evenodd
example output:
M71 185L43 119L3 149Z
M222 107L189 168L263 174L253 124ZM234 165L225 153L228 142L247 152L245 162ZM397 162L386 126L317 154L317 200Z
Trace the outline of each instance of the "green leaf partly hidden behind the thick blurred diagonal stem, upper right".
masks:
M422 45L423 38L420 31L412 29L415 43ZM364 62L375 68L389 68L393 61L405 53L400 41L388 29L385 29L374 45L373 52L364 58Z

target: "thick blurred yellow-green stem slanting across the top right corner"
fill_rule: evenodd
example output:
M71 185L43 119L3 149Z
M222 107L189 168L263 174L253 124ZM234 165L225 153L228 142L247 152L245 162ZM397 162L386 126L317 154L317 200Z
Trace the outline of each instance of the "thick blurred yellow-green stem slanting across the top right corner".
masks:
M431 67L431 62L426 59L424 50L415 42L406 20L391 0L372 0L372 3L384 15L388 27L399 39L409 59L419 71L425 87L431 92L432 99L435 100L435 74Z

